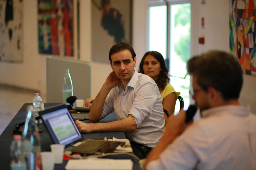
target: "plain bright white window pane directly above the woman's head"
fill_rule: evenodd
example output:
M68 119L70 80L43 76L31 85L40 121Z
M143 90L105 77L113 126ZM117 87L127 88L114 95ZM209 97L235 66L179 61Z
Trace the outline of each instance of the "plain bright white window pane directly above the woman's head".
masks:
M167 6L149 7L149 51L158 51L166 59Z

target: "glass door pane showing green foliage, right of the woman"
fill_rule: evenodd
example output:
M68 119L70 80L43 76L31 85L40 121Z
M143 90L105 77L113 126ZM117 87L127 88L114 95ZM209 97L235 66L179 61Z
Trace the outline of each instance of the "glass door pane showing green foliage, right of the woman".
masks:
M176 4L170 7L170 77L171 85L184 100L184 109L189 106L190 77L185 77L186 62L190 58L190 27L191 4ZM176 77L173 77L176 76ZM179 104L176 103L175 113L179 112Z

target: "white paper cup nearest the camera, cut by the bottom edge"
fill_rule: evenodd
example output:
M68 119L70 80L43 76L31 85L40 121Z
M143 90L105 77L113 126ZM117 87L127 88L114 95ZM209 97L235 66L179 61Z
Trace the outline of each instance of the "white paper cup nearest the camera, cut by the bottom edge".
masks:
M54 169L54 155L52 152L41 152L41 164L42 170L53 170Z

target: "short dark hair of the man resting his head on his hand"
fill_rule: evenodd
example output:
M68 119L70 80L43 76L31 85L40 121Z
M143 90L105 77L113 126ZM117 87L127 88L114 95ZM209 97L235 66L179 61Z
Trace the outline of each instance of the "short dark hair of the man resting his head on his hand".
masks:
M134 61L134 57L136 57L136 54L135 54L132 46L126 42L119 42L119 43L116 43L115 45L113 45L111 47L111 49L109 50L109 61L111 61L111 64L112 64L111 55L113 55L117 52L120 52L120 51L124 51L124 50L129 50L131 52L132 59Z

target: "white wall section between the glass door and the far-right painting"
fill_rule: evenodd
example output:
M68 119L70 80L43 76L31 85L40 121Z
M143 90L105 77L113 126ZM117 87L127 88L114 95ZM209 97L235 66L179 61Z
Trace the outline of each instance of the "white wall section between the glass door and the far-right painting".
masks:
M229 52L229 1L214 0L206 1L205 4L201 4L201 1L197 3L199 6L198 36L205 37L205 44L199 45L198 53L211 49ZM201 28L202 17L205 21L204 28Z

